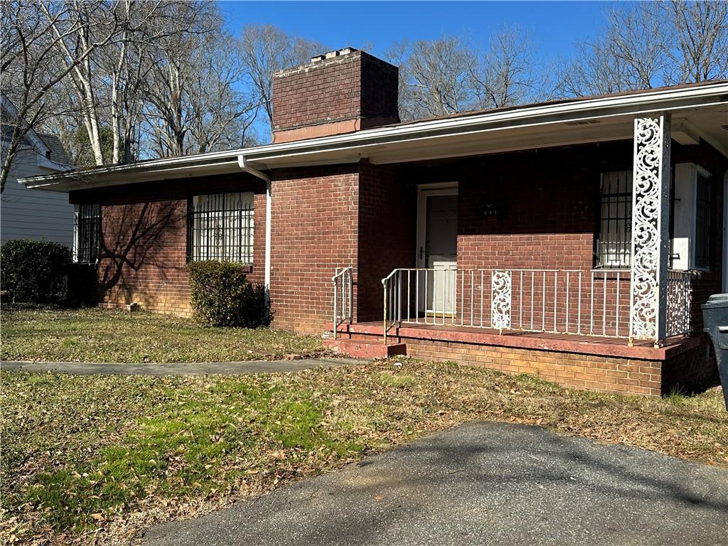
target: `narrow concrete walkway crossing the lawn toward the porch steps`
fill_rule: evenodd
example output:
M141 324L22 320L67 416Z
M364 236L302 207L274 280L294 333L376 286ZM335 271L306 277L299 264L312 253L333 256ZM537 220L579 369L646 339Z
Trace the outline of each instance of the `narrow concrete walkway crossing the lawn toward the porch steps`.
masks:
M248 362L208 362L171 364L103 364L76 362L20 362L3 360L0 370L33 371L44 373L72 373L75 375L121 376L201 376L234 375L237 373L273 373L299 371L308 368L336 368L365 362L355 358L304 358L301 360L250 360Z

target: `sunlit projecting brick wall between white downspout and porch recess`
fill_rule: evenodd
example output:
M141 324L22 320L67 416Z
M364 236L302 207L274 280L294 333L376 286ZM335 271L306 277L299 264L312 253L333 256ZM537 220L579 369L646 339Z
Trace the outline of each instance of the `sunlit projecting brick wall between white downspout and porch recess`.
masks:
M277 171L272 196L274 325L322 333L334 269L354 266L357 275L359 165Z

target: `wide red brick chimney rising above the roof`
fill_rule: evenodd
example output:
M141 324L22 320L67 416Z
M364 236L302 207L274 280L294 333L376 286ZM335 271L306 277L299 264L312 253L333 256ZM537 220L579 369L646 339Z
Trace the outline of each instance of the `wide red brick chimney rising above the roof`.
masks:
M273 75L273 142L397 123L398 69L346 47Z

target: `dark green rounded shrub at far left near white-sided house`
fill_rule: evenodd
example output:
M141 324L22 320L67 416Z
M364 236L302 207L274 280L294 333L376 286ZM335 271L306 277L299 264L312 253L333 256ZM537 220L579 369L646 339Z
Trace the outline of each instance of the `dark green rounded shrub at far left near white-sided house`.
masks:
M0 250L2 290L14 302L47 304L65 298L71 250L57 242L7 241Z

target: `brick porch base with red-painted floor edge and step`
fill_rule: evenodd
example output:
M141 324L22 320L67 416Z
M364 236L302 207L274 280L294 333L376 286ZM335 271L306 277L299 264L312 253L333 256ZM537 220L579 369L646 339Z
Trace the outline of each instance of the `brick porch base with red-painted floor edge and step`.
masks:
M341 336L384 345L381 325L344 325ZM705 336L665 347L630 347L625 339L510 333L473 328L402 327L388 341L405 344L408 356L453 361L505 373L528 373L566 387L660 396L673 389L700 390L715 381L716 366ZM342 347L343 344L342 344Z

